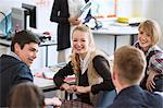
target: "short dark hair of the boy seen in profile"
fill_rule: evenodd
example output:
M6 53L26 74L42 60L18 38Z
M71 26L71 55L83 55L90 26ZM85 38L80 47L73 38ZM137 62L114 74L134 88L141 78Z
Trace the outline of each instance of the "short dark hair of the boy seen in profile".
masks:
M30 31L23 29L21 32L15 33L12 43L11 43L11 51L14 51L14 45L18 44L21 48L24 48L25 44L36 43L40 45L39 37Z

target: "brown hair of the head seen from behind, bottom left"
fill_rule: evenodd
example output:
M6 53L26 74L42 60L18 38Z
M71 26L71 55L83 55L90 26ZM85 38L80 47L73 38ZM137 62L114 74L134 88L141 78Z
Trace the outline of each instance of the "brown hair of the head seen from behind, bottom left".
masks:
M42 108L45 96L32 82L21 83L14 86L9 95L10 108Z

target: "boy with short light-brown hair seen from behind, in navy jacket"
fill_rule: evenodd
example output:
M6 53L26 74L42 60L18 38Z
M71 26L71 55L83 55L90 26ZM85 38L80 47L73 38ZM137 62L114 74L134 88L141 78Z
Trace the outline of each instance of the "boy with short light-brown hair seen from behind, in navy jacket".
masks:
M115 51L112 81L118 94L108 108L163 108L161 95L139 86L145 70L146 58L141 50L123 46Z

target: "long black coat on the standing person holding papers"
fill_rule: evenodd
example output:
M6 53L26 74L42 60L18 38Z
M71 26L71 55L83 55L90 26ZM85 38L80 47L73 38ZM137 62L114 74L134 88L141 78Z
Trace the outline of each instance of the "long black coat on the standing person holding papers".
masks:
M71 47L71 25L68 22L68 17L70 13L67 0L54 0L50 21L58 23L57 50L63 50Z

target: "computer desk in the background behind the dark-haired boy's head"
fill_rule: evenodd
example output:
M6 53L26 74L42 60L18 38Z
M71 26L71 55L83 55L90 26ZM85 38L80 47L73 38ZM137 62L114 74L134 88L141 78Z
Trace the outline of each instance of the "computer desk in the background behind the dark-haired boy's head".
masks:
M2 45L4 47L10 47L11 40L0 39L0 45ZM40 47L46 47L46 67L48 67L48 47L55 46L55 45L57 45L57 41L54 41L54 40L47 40L47 41L40 44Z

